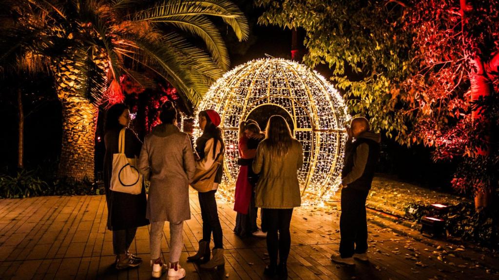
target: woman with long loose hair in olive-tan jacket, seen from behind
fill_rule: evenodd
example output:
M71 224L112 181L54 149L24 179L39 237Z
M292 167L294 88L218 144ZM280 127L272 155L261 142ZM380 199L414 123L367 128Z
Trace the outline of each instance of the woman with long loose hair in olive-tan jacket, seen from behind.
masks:
M270 117L265 139L258 145L252 164L253 171L260 174L255 205L262 208L261 227L267 232L270 263L264 274L270 277L277 273L280 279L287 279L289 225L293 208L301 203L298 169L302 164L301 143L292 137L286 120L277 115Z

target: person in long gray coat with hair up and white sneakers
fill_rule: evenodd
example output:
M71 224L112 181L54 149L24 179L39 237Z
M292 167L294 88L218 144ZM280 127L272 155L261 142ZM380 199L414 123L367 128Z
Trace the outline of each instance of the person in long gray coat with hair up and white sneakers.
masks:
M161 125L146 136L140 152L139 169L149 178L147 218L151 221L149 243L152 277L160 278L168 268L168 279L186 276L179 265L182 253L182 228L191 219L189 182L194 177L196 163L189 136L177 127L177 110L172 102L161 106ZM161 259L161 239L165 221L170 224L170 261Z

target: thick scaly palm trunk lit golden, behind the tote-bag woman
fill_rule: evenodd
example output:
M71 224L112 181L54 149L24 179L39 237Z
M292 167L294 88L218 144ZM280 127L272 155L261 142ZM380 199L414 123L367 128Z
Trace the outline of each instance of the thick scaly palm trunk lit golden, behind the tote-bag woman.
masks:
M63 132L57 176L93 181L98 107L78 97L64 98L61 103Z

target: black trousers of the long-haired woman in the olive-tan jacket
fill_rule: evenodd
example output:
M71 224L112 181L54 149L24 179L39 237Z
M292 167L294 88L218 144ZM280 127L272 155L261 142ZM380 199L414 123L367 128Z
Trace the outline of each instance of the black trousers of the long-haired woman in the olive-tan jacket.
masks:
M289 224L291 223L292 215L293 208L261 209L261 227L267 231L267 251L270 266L277 265L277 255L279 255L279 263L287 263L291 247Z

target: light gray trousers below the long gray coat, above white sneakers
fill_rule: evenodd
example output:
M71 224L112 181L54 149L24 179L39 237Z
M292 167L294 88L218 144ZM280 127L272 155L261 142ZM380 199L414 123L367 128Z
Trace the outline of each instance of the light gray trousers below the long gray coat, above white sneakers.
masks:
M165 221L151 222L149 245L151 247L151 260L153 261L161 257L161 239L163 238L164 226ZM183 227L184 221L179 224L170 223L170 263L176 263L180 259L182 246L184 246Z

